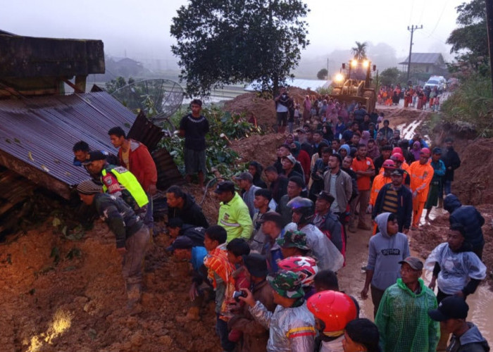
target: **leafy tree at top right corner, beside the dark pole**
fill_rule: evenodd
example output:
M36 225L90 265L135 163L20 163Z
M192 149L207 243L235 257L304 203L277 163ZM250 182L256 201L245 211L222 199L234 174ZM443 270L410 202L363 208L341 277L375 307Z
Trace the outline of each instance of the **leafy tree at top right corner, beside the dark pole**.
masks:
M487 62L488 36L486 28L485 0L472 0L456 7L458 28L447 39L451 53L456 53L458 61Z

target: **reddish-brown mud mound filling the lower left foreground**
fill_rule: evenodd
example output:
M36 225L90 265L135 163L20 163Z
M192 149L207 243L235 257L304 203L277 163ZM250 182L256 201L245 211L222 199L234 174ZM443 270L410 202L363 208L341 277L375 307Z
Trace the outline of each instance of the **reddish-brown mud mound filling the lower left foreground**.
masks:
M189 306L188 263L165 253L159 235L146 260L143 311L129 316L115 239L99 220L81 241L50 222L0 251L0 344L4 351L220 351L213 304L202 321Z

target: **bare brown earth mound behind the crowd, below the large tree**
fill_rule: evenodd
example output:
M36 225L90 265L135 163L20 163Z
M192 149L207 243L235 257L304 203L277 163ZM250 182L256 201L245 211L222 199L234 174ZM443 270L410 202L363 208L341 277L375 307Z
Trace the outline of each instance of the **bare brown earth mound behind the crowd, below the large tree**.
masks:
M306 95L316 95L318 93L311 90L299 89L296 87L289 88L289 96L300 104ZM263 99L256 92L245 93L237 96L235 99L225 103L225 110L232 113L245 113L247 116L253 114L258 125L272 127L276 123L275 103L272 99ZM301 111L303 113L303 111Z

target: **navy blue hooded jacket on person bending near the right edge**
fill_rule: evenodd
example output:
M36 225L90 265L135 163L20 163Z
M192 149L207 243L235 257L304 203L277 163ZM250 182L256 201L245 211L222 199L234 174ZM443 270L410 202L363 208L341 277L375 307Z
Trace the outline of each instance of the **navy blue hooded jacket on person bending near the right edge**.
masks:
M473 249L482 248L485 239L482 235L482 225L485 225L485 218L473 206L463 206L454 194L449 194L444 199L444 209L450 213L450 224L458 222L466 230L466 241L473 246Z

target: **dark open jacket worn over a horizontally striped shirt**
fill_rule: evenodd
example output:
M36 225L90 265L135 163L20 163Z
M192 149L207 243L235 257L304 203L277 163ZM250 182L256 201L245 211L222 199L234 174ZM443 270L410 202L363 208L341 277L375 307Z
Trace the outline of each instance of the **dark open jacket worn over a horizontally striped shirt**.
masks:
M377 200L375 201L375 206L371 213L371 218L375 219L376 216L383 212L382 208L384 205L385 194L392 186L392 183L385 184L382 189L378 192ZM397 223L399 224L399 232L403 229L408 229L411 227L411 217L413 215L413 194L405 186L401 186L399 191L397 191Z

